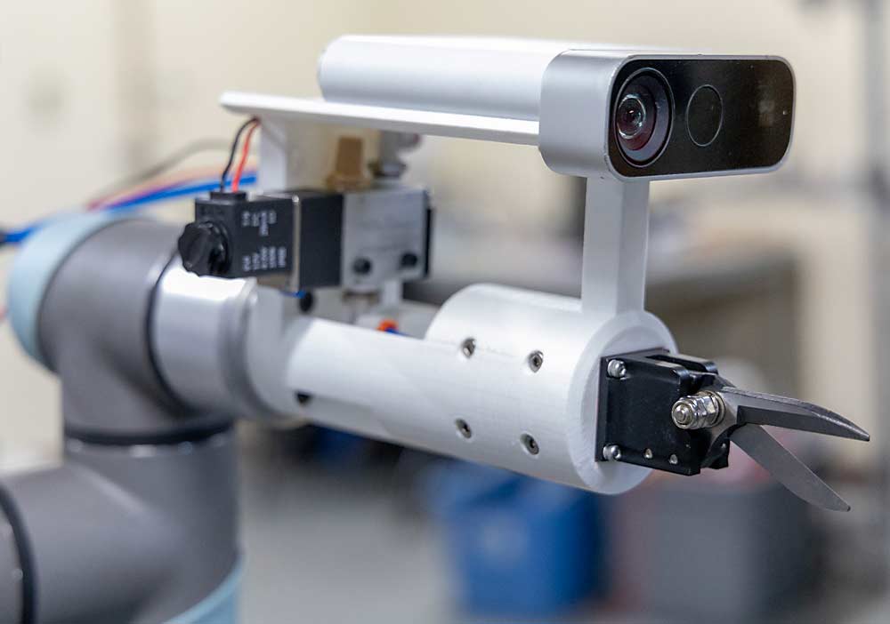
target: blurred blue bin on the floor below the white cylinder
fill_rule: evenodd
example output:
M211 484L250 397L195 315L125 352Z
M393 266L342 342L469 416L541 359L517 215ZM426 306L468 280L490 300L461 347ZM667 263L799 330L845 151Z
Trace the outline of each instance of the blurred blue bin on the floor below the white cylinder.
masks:
M599 497L466 463L436 468L425 494L465 611L539 618L604 592Z

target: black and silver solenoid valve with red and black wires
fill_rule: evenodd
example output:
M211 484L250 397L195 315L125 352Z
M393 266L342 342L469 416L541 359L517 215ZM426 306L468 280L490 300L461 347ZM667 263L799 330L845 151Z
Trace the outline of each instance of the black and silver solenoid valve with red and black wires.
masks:
M367 290L428 274L431 214L425 189L407 186L216 191L195 201L179 252L199 276L271 277L267 285L292 292Z

